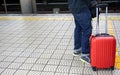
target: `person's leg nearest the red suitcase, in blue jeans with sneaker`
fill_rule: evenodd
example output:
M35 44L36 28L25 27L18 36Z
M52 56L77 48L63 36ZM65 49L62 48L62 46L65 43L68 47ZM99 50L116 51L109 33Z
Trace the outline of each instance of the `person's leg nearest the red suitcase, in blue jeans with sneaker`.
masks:
M87 63L90 63L90 45L89 38L92 34L92 25L91 25L91 14L89 9L86 9L82 16L84 16L83 21L81 22L82 26L82 55L81 60Z

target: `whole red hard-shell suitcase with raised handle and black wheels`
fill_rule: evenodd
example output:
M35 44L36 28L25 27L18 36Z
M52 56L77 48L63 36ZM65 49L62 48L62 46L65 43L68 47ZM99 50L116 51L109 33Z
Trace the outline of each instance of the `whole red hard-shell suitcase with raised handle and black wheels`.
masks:
M103 6L103 5L102 5ZM116 52L116 39L114 36L107 34L107 11L106 7L106 33L99 33L99 15L97 6L97 34L92 35L90 38L90 59L91 66L94 71L97 69L111 68L114 70L115 65L115 52Z

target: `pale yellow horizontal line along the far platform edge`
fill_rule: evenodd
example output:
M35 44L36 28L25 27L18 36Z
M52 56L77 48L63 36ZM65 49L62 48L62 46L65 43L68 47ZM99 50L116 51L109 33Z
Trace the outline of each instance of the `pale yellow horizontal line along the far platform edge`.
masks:
M94 18L93 20L95 20ZM71 16L56 16L56 17L47 17L47 16L1 16L0 20L64 20L72 21L73 17ZM100 17L100 20L105 20L104 17ZM120 17L108 17L108 20L120 20Z

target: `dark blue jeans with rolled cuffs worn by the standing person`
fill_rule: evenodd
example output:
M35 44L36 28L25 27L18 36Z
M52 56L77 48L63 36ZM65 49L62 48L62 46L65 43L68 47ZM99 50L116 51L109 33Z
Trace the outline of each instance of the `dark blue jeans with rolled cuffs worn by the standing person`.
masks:
M89 38L92 33L91 14L88 8L79 14L73 14L75 20L74 52L82 49L83 54L90 53Z

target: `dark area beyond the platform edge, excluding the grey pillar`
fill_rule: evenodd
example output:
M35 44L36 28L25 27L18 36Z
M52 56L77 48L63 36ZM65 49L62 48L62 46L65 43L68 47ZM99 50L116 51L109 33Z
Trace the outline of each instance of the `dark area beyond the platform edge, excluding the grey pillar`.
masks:
M120 12L120 0L97 0L99 3L108 3L110 13ZM68 13L67 0L36 0L37 13L53 13L59 8L60 13ZM0 13L21 13L20 0L0 0ZM104 11L104 10L103 10Z

